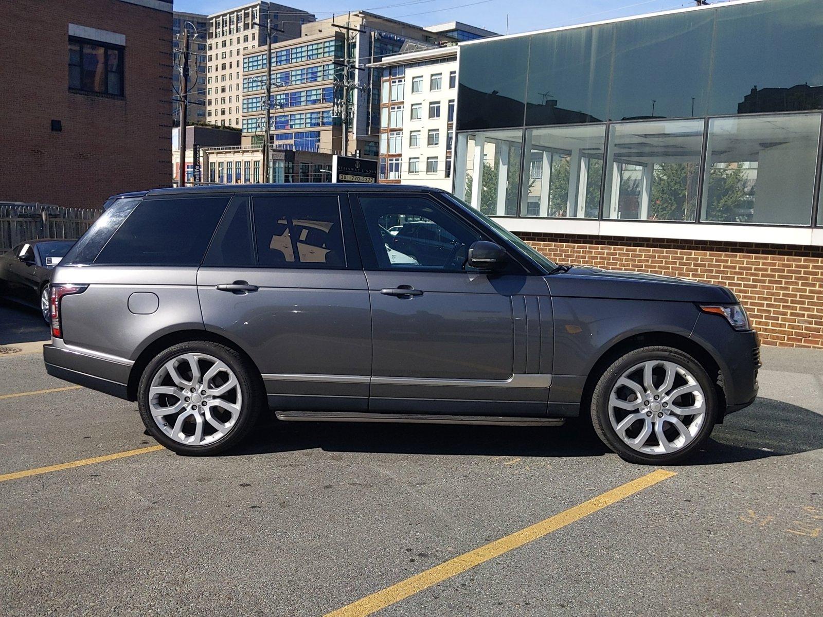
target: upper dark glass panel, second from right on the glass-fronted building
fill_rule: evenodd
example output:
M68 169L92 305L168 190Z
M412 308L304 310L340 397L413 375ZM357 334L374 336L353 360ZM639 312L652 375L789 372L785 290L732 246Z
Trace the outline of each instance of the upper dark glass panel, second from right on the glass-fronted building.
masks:
M714 13L681 12L615 25L611 120L705 115Z

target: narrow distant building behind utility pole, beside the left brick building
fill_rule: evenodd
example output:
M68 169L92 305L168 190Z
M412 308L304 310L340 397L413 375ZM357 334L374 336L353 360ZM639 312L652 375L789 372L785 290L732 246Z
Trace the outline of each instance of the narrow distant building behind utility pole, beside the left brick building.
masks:
M180 102L177 96L179 92L180 68L183 66L183 40L180 36L184 27L188 28L189 39L189 70L188 83L190 95L186 109L186 124L206 122L206 45L208 16L199 13L184 13L175 11L172 19L172 54L174 68L171 79L173 82L172 92L172 118L175 127L180 125Z

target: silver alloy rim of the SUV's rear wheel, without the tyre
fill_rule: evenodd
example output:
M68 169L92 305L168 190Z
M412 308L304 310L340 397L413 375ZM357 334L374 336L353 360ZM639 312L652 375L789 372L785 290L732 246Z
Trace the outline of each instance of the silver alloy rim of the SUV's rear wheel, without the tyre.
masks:
M226 437L242 407L235 373L212 355L179 355L151 378L151 417L168 437L188 446L205 446Z

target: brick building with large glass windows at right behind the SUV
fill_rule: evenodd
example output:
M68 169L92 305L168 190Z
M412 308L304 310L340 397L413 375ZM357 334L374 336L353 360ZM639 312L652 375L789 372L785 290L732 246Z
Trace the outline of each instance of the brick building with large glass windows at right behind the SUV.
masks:
M459 44L453 192L556 262L727 285L765 343L823 348L821 58L819 0Z

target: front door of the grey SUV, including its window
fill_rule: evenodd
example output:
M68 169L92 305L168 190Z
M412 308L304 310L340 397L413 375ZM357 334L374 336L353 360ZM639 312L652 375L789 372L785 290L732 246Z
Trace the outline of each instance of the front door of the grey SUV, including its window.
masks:
M542 278L516 262L491 276L467 269L468 248L489 238L435 197L362 193L357 203L372 314L369 410L546 415Z

